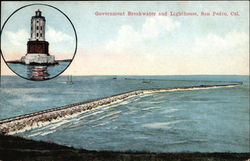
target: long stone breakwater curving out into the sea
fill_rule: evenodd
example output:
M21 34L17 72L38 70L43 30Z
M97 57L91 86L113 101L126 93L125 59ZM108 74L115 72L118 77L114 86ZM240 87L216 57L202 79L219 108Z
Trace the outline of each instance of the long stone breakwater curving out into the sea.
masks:
M182 90L198 90L209 88L221 88L221 87L233 87L241 85L242 83L232 83L225 85L200 85L200 86L188 86L178 88L155 88L155 89L141 89L135 91L129 91L109 97L99 98L86 102L80 102L63 107L53 108L40 112L34 112L21 116L16 116L4 120L0 120L0 132L3 134L14 134L19 131L25 131L28 128L42 126L43 124L50 123L51 121L77 115L85 111L108 105L117 101L128 99L132 96L141 95L152 92L166 92L166 91L182 91Z

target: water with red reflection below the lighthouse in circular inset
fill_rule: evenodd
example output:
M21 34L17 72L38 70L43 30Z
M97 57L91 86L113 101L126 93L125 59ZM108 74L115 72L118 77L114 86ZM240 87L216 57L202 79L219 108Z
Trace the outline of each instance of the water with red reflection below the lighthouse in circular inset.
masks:
M57 65L24 65L8 63L8 66L16 74L31 80L50 79L63 72L70 62L59 62Z

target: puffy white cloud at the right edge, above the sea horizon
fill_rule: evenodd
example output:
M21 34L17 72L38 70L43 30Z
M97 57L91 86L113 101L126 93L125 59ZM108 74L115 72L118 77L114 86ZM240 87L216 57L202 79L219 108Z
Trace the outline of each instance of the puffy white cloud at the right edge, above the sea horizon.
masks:
M200 73L249 74L249 36L228 32L223 36L209 33L196 39L189 57L199 65ZM198 67L198 66L197 66Z

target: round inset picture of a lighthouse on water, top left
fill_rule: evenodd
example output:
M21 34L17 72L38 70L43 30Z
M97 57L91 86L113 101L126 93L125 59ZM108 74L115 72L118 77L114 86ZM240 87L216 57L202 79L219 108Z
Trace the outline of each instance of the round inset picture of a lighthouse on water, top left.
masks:
M67 69L76 50L74 25L54 6L23 6L7 18L1 30L3 59L14 73L25 79L55 78Z

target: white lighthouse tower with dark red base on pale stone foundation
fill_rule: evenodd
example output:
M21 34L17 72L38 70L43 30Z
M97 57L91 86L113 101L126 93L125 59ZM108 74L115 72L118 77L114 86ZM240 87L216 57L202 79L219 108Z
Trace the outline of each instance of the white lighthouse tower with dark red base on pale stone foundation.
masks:
M21 58L24 64L56 64L55 56L49 54L49 42L45 39L45 17L38 9L31 18L30 39L27 42L27 54Z

